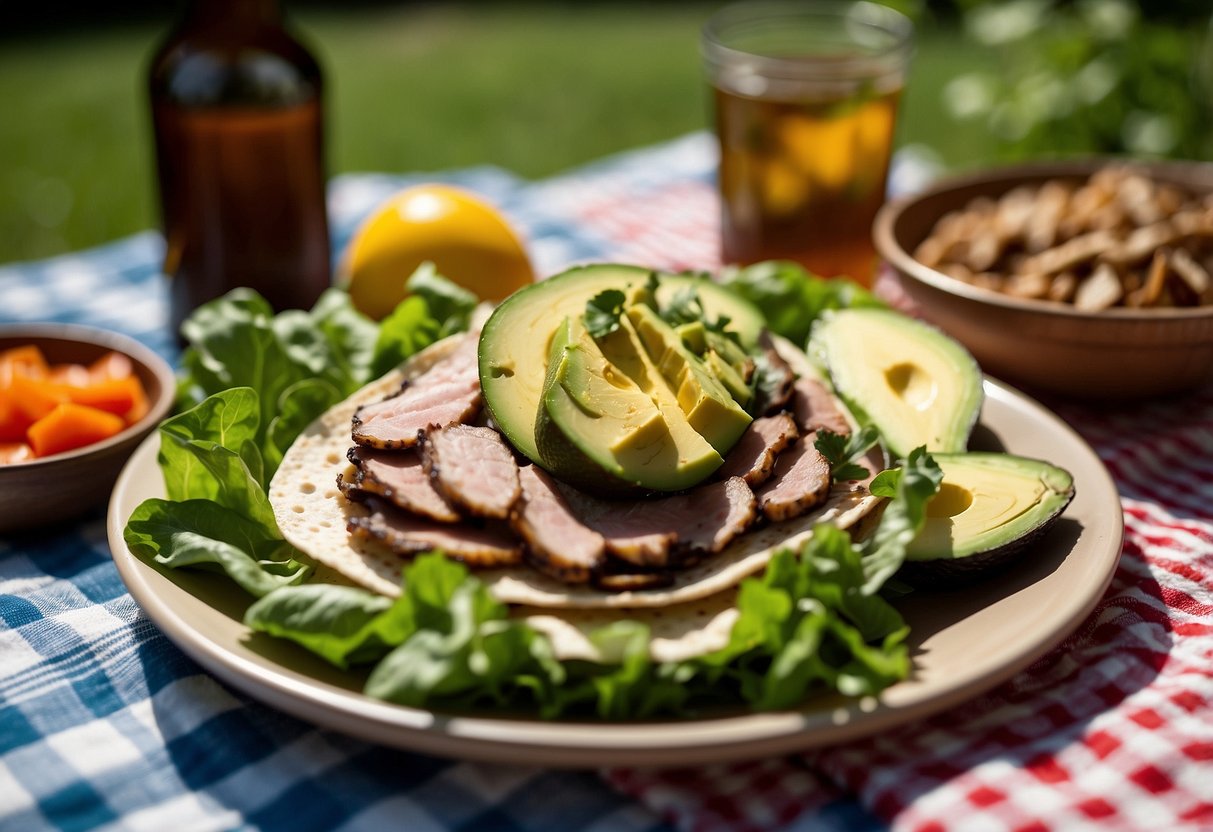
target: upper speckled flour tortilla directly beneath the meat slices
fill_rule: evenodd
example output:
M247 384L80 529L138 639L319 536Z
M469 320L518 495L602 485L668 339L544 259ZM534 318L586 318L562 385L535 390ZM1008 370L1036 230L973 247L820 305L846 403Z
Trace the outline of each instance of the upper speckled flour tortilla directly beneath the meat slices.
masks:
M378 401L406 378L421 375L449 355L461 338L451 336L412 357L400 369L371 382L347 400L320 416L296 439L269 484L269 500L283 536L312 559L344 575L351 581L385 595L398 595L400 572L406 558L387 547L355 540L346 531L351 517L366 515L366 508L351 503L338 491L338 473L352 473L346 461L351 417L359 405ZM786 342L781 352L802 375L816 375L803 353ZM674 582L664 589L604 592L590 586L570 586L529 566L478 570L495 598L554 610L638 610L666 609L699 602L738 586L759 572L775 551L799 546L813 535L813 526L832 523L849 529L881 503L866 491L839 486L824 506L804 517L751 530L728 548L702 563L673 572ZM619 616L619 612L613 612ZM631 615L627 617L632 617Z

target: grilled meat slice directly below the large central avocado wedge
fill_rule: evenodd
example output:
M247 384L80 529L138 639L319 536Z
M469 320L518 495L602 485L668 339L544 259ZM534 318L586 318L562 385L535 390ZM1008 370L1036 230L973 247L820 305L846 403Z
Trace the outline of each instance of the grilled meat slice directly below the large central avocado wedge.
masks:
M611 502L581 495L570 505L606 538L608 552L645 569L719 552L757 518L753 491L740 477L657 500Z

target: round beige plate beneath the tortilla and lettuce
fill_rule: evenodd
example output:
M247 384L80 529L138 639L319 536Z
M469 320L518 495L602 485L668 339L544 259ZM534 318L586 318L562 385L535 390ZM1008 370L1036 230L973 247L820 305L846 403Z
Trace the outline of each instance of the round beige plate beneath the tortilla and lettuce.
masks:
M974 450L1048 460L1074 474L1063 519L1010 571L972 588L918 593L898 606L911 626L913 672L878 700L827 697L799 711L677 722L542 722L435 713L381 702L363 679L241 623L249 604L221 576L161 572L137 559L123 526L163 497L156 437L131 457L109 503L109 545L135 600L207 671L255 699L354 736L411 751L531 765L699 765L782 754L865 736L975 696L1027 667L1104 594L1124 532L1116 486L1090 448L1021 393L986 381Z

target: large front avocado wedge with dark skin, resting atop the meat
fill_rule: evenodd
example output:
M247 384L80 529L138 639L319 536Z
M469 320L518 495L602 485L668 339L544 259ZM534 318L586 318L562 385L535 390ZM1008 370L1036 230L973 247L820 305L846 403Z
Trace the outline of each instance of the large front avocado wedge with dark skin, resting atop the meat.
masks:
M724 460L691 427L628 321L621 324L602 344L580 315L557 330L537 420L542 465L596 491L690 488Z

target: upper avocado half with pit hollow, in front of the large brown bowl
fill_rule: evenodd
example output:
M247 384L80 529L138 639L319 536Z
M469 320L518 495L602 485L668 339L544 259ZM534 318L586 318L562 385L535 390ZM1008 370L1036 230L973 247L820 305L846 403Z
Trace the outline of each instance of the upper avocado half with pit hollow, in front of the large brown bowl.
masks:
M813 325L813 357L860 422L905 458L968 446L981 410L981 370L959 343L888 309L839 309Z

